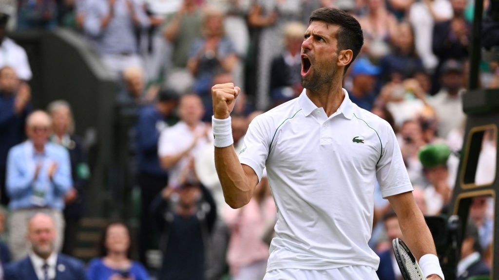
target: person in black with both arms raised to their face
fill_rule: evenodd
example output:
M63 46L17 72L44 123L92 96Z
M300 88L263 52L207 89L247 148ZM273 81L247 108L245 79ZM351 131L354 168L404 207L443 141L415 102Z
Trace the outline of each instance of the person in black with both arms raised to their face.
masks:
M158 279L206 279L206 246L217 218L217 207L206 187L186 181L191 171L192 161L184 168L179 187L165 187L151 206L163 233L163 265Z

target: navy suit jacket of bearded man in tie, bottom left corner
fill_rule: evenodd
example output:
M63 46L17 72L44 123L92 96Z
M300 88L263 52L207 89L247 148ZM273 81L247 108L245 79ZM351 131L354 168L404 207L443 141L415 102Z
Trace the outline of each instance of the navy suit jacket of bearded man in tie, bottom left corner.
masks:
M4 278L8 280L36 280L36 273L29 257L4 267ZM58 254L55 280L86 280L85 267L80 261Z

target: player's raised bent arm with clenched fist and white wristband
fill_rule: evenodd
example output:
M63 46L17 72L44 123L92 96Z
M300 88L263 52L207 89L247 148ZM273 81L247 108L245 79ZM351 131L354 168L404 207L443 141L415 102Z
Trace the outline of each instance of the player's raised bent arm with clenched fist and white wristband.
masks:
M215 167L222 184L225 201L232 208L250 202L258 176L248 165L242 165L234 150L230 114L241 92L233 83L212 87Z

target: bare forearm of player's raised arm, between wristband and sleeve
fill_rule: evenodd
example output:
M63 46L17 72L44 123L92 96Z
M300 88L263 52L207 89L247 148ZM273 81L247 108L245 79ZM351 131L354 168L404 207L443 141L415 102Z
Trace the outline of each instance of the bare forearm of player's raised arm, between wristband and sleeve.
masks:
M256 182L250 182L233 145L215 147L215 167L227 204L234 209L248 204Z

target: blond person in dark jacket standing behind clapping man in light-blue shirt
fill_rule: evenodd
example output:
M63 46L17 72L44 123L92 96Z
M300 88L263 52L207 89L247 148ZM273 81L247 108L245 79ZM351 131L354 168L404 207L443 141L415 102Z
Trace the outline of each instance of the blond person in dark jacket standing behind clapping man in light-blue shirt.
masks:
M82 140L74 135L74 121L71 107L66 101L51 102L47 111L52 118L52 136L50 140L67 149L71 161L73 187L64 196L64 246L62 253L73 255L76 246L78 224L85 213L85 187L90 179L87 154Z

